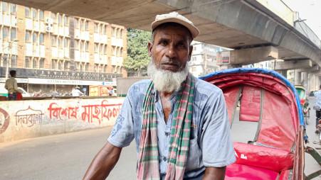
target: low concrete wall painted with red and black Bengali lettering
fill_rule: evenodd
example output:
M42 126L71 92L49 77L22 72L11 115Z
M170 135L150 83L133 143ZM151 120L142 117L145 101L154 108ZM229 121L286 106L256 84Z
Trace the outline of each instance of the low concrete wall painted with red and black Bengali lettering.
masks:
M0 102L0 142L115 124L124 98Z

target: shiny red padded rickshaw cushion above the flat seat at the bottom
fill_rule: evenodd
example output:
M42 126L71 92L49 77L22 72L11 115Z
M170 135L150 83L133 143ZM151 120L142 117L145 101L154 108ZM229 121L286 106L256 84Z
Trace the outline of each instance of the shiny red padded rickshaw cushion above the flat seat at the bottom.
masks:
M277 172L293 169L294 154L288 150L249 145L241 142L233 142L233 146L236 152L236 164Z

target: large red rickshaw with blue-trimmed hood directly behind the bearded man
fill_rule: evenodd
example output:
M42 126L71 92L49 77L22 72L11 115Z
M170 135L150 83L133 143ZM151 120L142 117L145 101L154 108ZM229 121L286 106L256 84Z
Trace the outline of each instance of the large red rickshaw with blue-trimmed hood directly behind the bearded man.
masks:
M225 179L318 176L321 171L304 174L305 152L317 152L304 146L300 99L285 77L268 69L236 68L199 78L218 86L226 100L236 162L226 167Z

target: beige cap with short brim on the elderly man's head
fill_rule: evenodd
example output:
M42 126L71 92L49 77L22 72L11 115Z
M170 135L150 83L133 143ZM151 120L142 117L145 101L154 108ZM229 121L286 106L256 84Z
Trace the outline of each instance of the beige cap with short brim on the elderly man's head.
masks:
M196 28L191 21L189 21L184 16L181 16L177 12L157 15L155 21L152 22L152 30L154 30L154 28L161 25L162 23L179 23L185 26L191 32L191 36L193 39L196 38L197 35L199 35L199 29Z

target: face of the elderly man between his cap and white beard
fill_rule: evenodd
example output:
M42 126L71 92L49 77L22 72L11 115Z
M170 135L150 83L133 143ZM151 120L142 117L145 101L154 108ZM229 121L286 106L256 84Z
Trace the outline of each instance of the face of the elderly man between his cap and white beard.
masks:
M191 60L190 33L186 28L167 26L158 28L154 43L148 43L148 55L154 58L157 69L180 72Z

